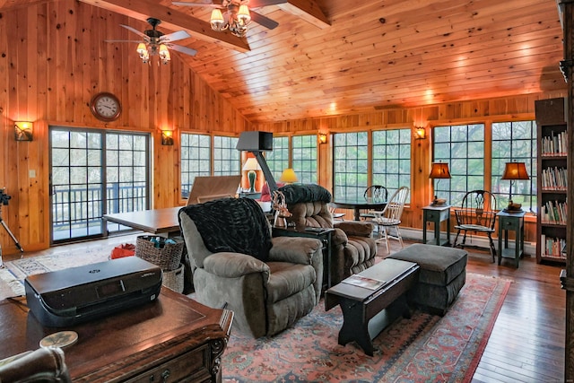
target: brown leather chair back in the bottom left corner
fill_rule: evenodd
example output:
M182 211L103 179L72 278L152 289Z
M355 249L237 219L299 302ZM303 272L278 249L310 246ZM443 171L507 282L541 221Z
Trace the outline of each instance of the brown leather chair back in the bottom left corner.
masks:
M1 363L1 362L0 362ZM0 382L71 382L64 352L57 347L39 348L15 355L0 366Z

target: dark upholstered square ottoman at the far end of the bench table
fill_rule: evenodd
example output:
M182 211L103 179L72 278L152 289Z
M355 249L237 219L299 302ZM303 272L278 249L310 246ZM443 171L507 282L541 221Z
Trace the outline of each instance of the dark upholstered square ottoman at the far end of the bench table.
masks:
M409 292L409 300L444 315L465 285L467 257L468 253L459 248L414 244L389 258L421 266L419 281Z

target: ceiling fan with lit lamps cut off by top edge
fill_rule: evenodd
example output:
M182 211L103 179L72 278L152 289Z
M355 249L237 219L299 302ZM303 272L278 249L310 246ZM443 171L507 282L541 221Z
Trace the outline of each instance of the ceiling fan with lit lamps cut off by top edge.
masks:
M209 3L190 3L173 1L171 4L181 6L211 6L213 7L210 23L216 31L230 30L237 37L245 37L248 23L251 21L273 30L278 22L269 19L261 13L253 11L265 5L283 4L287 0L211 0ZM248 6L249 5L249 6ZM224 13L222 13L222 11Z

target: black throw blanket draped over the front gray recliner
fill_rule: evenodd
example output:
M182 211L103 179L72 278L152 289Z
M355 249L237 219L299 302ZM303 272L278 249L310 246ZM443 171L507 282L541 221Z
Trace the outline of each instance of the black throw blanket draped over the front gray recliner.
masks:
M271 232L261 207L253 199L223 198L204 204L189 205L179 210L197 226L205 248L213 253L243 253L266 261L269 257Z

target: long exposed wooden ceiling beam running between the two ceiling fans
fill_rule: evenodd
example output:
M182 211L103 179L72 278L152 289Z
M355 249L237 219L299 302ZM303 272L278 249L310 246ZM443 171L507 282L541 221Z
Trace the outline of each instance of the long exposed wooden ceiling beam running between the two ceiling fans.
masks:
M148 17L161 20L161 26L167 29L187 30L196 39L214 42L226 48L247 52L250 50L247 39L239 39L229 32L212 30L209 22L204 22L186 13L157 4L151 0L80 0L115 13L125 14L131 18L145 21Z

